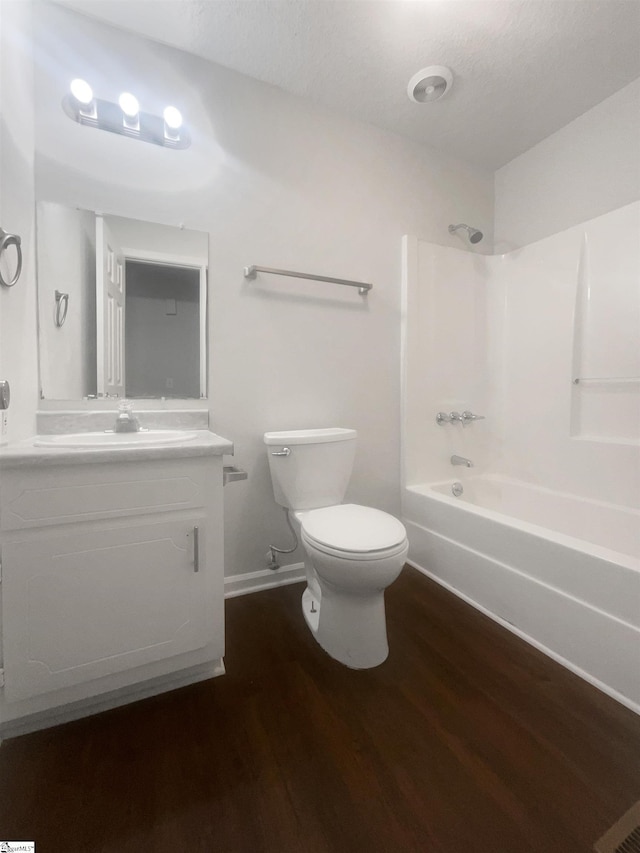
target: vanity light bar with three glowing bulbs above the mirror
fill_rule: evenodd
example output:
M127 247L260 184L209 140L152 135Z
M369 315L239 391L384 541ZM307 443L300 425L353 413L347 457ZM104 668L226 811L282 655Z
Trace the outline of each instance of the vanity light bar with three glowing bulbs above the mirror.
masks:
M166 107L162 116L140 110L138 99L123 92L118 103L94 97L91 86L80 78L71 81L70 92L62 99L62 109L78 124L119 133L164 148L188 148L191 137L175 107Z

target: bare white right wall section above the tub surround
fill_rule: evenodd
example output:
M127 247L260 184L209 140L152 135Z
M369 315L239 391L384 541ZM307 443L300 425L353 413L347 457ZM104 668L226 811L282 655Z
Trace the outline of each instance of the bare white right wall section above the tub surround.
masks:
M495 175L495 251L508 252L640 198L640 79Z

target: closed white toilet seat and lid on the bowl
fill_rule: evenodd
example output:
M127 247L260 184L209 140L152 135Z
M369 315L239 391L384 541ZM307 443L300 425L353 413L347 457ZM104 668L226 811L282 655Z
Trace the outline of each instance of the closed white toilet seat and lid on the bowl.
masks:
M339 504L297 515L303 540L325 554L347 560L378 560L406 547L407 532L402 522L373 507Z

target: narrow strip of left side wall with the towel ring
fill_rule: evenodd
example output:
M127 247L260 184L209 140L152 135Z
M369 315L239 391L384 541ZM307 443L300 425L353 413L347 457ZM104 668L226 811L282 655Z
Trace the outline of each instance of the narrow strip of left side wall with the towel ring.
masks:
M9 440L35 431L38 402L31 7L0 3L0 226L22 238L22 275L0 286L0 378L11 384ZM26 34L26 35L25 35Z

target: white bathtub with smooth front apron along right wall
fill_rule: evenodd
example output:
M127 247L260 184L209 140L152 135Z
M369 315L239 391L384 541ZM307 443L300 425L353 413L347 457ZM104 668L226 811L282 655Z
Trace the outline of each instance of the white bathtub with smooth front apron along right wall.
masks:
M405 488L409 562L640 713L640 511L454 482Z

